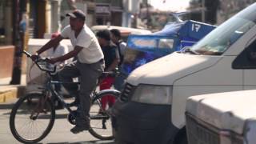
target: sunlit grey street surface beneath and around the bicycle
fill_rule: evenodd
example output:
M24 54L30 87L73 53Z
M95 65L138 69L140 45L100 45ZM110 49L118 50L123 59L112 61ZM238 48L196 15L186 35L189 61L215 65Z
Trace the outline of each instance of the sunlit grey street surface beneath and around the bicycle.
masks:
M0 103L0 142L1 143L20 143L10 132L9 127L9 117L11 108L16 102L14 99L10 102ZM70 129L73 127L66 120L66 110L56 110L56 119L54 122L54 127L50 131L50 134L46 136L39 143L76 143L76 144L114 144L114 141L100 141L94 138L88 131L82 132L80 134L72 134Z

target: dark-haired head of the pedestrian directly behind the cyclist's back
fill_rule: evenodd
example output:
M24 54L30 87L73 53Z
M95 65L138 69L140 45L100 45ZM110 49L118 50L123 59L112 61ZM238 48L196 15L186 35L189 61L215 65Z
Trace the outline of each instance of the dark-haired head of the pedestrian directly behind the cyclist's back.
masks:
M101 46L107 46L110 43L110 30L100 30L96 33L98 42Z

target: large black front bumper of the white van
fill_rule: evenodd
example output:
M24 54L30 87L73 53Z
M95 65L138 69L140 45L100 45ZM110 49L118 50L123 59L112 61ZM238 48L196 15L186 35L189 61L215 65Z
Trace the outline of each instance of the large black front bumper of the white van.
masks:
M118 144L165 144L178 128L171 123L171 106L119 102L113 107L113 126Z

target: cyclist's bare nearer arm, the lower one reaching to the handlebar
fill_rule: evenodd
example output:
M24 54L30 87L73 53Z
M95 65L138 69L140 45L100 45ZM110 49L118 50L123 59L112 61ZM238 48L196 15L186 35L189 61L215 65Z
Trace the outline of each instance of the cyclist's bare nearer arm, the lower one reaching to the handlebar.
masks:
M70 58L74 58L75 56L78 55L78 53L82 50L82 46L75 46L74 47L74 50L70 51L69 53L67 54L64 54L60 57L57 57L57 58L50 58L49 62L50 63L55 63L55 62L63 62L67 59L70 59Z

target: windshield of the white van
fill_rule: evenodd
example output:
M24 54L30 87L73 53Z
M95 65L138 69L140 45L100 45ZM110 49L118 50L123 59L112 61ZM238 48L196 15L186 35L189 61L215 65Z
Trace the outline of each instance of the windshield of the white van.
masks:
M246 8L207 34L190 50L203 55L222 55L243 34L255 26L255 11L256 4Z

